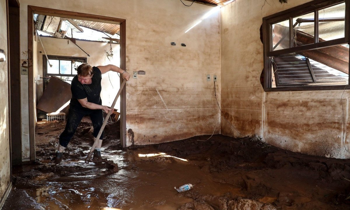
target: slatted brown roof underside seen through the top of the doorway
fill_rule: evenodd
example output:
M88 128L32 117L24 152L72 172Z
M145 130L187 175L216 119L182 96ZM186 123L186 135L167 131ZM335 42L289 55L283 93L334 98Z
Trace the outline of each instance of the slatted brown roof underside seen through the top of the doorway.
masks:
M94 29L97 31L105 32L111 35L119 34L120 26L112 23L100 23L87 20L76 20L73 19L75 23L79 26L84 26L86 28Z

